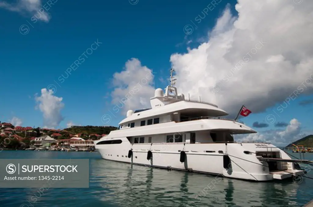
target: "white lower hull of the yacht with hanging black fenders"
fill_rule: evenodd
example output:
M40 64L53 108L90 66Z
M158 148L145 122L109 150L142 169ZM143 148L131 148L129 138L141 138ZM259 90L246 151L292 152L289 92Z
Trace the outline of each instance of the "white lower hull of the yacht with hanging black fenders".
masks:
M160 144L131 144L126 137L119 138L121 144L95 145L103 159L118 162L144 165L147 167L166 168L172 170L185 170L197 173L213 174L222 177L236 178L253 181L268 181L277 178L277 175L270 170L268 163L258 160L255 154L244 152L266 151L257 149L258 144L254 143L160 143ZM274 152L279 153L282 158L290 157L274 145ZM128 158L131 150L131 157ZM148 160L148 151L152 152ZM185 155L181 155L184 151ZM228 156L229 163L225 165L225 155ZM184 162L181 162L184 156ZM285 173L283 178L302 174L302 170L295 170L292 163L278 163L277 171L292 171ZM276 178L275 178L276 176Z

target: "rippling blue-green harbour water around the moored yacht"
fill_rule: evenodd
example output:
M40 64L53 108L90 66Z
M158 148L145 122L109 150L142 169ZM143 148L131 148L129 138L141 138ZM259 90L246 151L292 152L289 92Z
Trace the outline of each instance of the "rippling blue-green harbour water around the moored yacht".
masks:
M262 183L216 179L103 160L97 152L2 151L0 158L90 160L89 188L54 188L41 195L38 189L0 188L1 207L302 206L313 199L313 180L307 178L300 184L292 179ZM312 160L313 153L305 154L305 159ZM308 171L313 177L313 168ZM30 205L27 199L33 195L38 200Z

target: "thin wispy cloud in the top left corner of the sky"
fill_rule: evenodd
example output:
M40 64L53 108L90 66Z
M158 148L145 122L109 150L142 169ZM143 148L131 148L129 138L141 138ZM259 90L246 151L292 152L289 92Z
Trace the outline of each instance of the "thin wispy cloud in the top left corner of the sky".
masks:
M41 0L18 0L16 3L0 1L0 7L22 14L28 12L31 15L36 15L36 19L44 22L49 22L51 18L50 15L44 10Z

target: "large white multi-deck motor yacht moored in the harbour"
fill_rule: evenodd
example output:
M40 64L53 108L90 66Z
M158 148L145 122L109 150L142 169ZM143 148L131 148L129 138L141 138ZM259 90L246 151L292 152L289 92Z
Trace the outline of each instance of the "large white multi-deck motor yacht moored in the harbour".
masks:
M155 90L151 108L127 111L118 130L95 141L103 159L254 181L305 173L300 160L270 143L234 141L234 134L257 132L220 118L228 113L214 104L177 94L172 71L171 84L165 93Z

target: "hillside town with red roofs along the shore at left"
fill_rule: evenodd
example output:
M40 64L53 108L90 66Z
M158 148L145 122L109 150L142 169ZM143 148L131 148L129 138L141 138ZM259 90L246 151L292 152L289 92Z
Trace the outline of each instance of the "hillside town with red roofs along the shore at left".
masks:
M90 132L99 127L86 127L89 128L75 134L75 131L81 131L79 129L85 129L85 127L73 126L60 130L13 126L11 123L0 122L0 143L2 148L7 149L92 151L94 150L94 140L107 134L100 135Z

